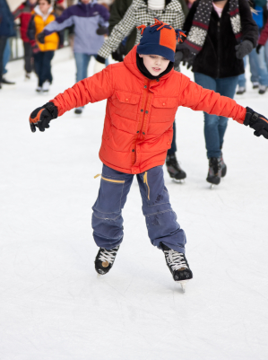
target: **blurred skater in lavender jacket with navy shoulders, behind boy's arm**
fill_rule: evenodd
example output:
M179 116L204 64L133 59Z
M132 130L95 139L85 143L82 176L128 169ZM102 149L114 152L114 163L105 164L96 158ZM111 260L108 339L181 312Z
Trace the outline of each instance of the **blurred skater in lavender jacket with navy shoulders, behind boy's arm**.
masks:
M88 77L91 57L97 57L99 48L108 32L108 10L96 0L82 0L67 8L64 13L50 22L39 34L39 41L46 40L51 33L62 31L74 25L73 53L76 64L76 82ZM83 108L74 110L81 114Z

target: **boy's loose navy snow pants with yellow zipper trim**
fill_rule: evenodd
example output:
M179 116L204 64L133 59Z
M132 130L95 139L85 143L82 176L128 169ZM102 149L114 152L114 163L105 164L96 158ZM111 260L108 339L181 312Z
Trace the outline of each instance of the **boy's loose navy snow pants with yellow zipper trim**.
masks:
M169 204L162 166L137 174L143 199L148 235L152 245L160 242L178 252L185 252L186 234L177 224L177 215ZM103 165L99 196L92 207L93 237L99 247L113 249L123 241L122 209L134 175Z

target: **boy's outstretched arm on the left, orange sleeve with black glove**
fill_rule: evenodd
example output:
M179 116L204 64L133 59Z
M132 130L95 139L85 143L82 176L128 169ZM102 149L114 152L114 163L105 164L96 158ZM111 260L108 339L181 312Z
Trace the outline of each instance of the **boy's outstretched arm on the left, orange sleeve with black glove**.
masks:
M34 133L36 127L40 131L45 131L49 127L49 122L62 116L65 111L79 108L89 102L96 102L108 99L113 93L113 79L111 66L101 72L88 77L72 88L59 93L45 105L33 110L30 114L30 129Z

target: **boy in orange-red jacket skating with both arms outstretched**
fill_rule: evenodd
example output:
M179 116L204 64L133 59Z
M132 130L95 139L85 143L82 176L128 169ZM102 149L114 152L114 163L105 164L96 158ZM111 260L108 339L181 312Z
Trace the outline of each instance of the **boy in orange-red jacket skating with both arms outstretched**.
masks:
M45 131L65 111L108 99L99 158L103 162L99 196L92 207L93 238L99 246L95 268L108 273L123 240L122 209L136 175L152 245L163 250L175 281L193 277L185 255L186 234L177 224L164 184L163 164L172 142L179 106L232 118L268 139L268 120L232 99L174 71L175 31L164 22L143 29L142 40L124 58L30 114L30 129Z

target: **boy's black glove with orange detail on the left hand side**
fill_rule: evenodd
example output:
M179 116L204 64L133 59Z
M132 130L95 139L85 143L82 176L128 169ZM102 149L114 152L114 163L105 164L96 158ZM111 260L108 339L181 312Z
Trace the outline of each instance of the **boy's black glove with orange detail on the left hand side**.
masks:
M49 122L56 118L56 106L53 102L47 102L44 106L33 110L30 114L30 130L35 133L36 127L38 127L40 131L45 131L49 127Z

